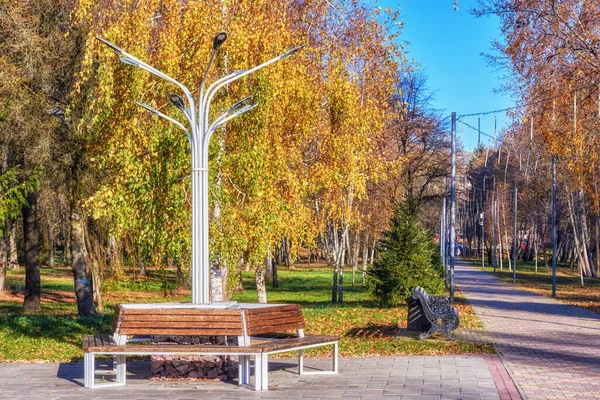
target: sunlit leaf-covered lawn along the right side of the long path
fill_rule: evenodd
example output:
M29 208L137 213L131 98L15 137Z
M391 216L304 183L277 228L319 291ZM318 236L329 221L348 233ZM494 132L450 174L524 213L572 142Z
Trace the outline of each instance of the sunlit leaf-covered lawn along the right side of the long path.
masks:
M481 267L481 264L479 266ZM489 272L494 270L489 266L486 266L485 269ZM497 269L496 276L502 281L512 284L513 273L508 268L504 268L502 271ZM534 262L519 262L516 282L519 288L542 296L552 296L552 269L546 270L541 261L538 262L537 273ZM585 287L581 287L578 269L571 269L568 264L557 265L556 298L600 314L600 279L584 278L584 285Z

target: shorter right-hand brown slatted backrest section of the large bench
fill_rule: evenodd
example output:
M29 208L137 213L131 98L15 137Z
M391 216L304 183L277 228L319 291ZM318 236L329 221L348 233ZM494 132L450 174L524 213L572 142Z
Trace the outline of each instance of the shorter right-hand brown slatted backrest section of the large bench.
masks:
M244 317L248 336L304 329L304 317L299 304L249 308L244 310Z

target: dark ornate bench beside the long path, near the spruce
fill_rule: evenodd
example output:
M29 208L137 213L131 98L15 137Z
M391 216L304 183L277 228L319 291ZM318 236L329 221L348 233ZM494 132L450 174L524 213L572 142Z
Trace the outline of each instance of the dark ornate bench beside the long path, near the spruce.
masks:
M451 332L458 328L460 317L448 298L445 296L430 296L420 286L413 290L411 297L421 302L425 317L431 324L431 328L427 332L421 333L419 338L427 339L435 332L443 332L446 337L452 339Z

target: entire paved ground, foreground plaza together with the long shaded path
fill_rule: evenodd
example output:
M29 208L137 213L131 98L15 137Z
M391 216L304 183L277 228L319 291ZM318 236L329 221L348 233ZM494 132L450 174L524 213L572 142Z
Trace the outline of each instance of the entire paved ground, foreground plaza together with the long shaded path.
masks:
M458 337L495 343L500 356L341 358L338 375L305 376L295 373L296 360L272 360L264 392L235 382L149 381L147 361L128 364L127 386L91 390L82 363L0 364L0 399L600 399L600 316L463 261L456 282L485 328ZM330 363L307 360L320 369Z

